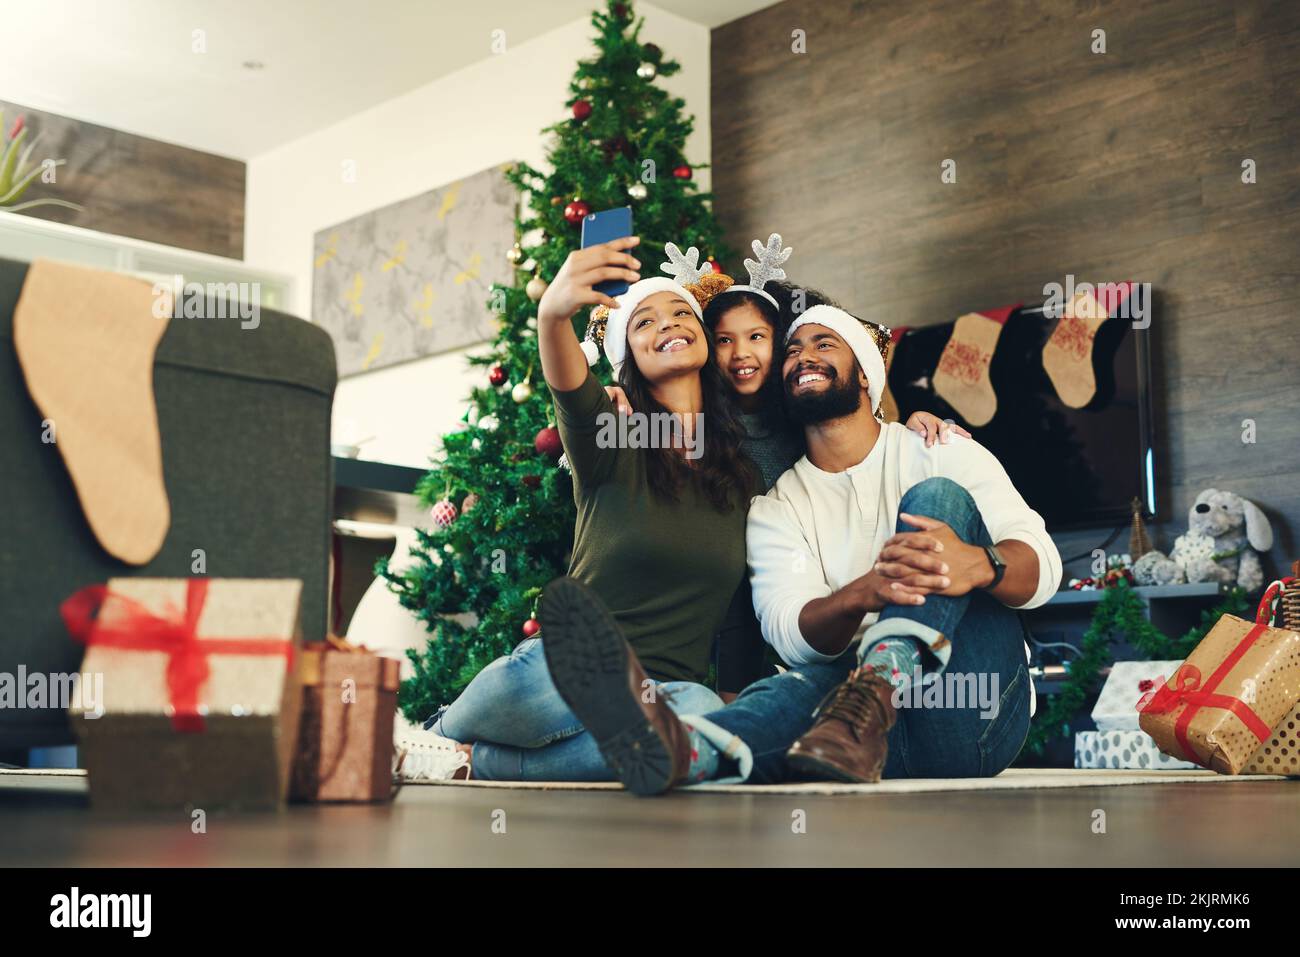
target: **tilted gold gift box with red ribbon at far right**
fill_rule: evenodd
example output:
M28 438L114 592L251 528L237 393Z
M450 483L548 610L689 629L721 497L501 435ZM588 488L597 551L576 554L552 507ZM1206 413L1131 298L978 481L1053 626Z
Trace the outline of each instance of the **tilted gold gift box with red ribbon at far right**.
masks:
M1162 752L1240 774L1300 700L1300 635L1223 615L1138 723Z

